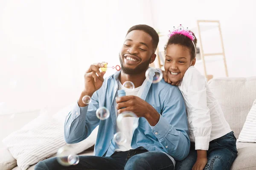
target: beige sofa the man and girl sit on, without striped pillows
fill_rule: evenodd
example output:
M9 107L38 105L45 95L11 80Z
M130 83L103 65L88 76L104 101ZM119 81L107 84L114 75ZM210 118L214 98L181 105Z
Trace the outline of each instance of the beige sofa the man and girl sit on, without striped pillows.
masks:
M256 77L215 78L208 84L236 138L239 138L247 113L256 99ZM237 142L237 150L238 156L231 170L256 170L256 143ZM9 164L10 170L20 170L7 148L2 148L0 152L0 166ZM79 155L93 155L93 147ZM33 170L34 167L35 165L28 170Z

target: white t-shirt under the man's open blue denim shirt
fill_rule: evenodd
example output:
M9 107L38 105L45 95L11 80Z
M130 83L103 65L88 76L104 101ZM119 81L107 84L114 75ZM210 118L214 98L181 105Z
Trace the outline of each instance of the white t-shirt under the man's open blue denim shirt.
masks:
M140 87L138 88L134 88L134 90L132 89L129 89L129 88L125 88L120 81L118 81L118 90L125 90L125 93L126 93L126 96L130 96L130 95L133 95L133 96L138 96L142 93L139 93L140 90L143 91L143 89ZM140 97L140 96L138 96ZM116 103L115 103L116 104ZM116 117L117 117L117 110L116 110ZM122 127L118 127L116 126L116 132L122 132L123 134L125 134L126 136L126 139L127 139L127 142L125 142L125 144L122 144L122 145L118 145L119 148L116 148L116 151L127 151L127 150L130 150L132 149L131 148L131 139L132 139L132 136L133 136L133 125L134 125L134 119L138 119L138 118L135 118L135 117L124 117L122 118Z

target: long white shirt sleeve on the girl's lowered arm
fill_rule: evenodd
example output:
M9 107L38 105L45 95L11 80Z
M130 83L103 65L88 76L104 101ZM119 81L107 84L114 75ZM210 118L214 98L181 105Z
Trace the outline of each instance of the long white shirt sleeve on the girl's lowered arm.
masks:
M195 68L189 68L183 77L187 99L191 107L195 150L208 150L212 129L210 111L207 107L206 80Z

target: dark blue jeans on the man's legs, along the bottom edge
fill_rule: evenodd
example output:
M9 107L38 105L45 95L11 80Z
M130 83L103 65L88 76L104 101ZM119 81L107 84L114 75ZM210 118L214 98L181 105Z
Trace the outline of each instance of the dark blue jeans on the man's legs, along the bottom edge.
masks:
M56 157L38 162L35 170L174 170L169 157L157 151L135 149L115 152L110 157L79 156L79 163L64 167Z

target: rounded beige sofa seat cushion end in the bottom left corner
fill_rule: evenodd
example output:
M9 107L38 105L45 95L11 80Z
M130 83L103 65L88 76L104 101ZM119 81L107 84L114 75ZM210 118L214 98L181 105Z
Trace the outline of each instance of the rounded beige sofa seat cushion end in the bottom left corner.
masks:
M11 170L17 166L17 161L7 148L0 149L0 170Z

